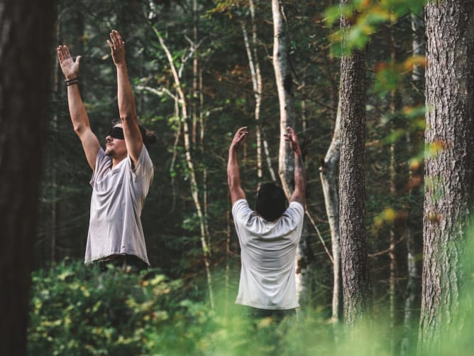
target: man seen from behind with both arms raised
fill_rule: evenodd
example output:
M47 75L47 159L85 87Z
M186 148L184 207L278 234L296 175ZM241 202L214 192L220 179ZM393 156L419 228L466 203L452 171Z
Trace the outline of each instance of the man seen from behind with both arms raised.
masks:
M236 303L253 317L281 320L299 306L296 291L296 252L304 220L306 177L297 134L287 127L285 140L294 152L294 192L287 207L285 193L275 183L258 191L255 211L241 188L238 148L248 135L241 127L228 150L227 178L232 214L241 245L241 279Z

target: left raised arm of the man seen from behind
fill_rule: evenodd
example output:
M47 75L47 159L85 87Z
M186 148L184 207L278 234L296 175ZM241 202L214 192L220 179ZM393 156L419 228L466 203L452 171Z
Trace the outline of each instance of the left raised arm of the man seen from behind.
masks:
M228 189L231 193L231 203L236 203L239 199L246 199L246 193L243 193L241 187L241 175L238 171L238 148L241 146L243 140L248 134L247 127L241 127L233 136L231 146L228 149L227 161L227 183Z

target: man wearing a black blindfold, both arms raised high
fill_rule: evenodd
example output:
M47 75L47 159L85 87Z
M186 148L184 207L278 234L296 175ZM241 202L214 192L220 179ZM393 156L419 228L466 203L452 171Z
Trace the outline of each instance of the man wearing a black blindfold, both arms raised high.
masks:
M148 144L156 137L138 124L135 100L125 63L120 34L110 33L112 59L117 70L117 97L120 120L106 136L105 151L92 132L89 117L79 93L79 61L72 60L65 45L57 56L65 75L67 101L74 130L82 142L92 168L92 198L85 263L148 268L148 256L140 215L153 180L153 163Z

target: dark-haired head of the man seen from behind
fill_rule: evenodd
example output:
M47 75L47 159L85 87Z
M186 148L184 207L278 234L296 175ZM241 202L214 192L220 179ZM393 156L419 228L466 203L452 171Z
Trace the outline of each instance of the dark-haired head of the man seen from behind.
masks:
M273 182L264 183L258 190L255 211L267 221L275 221L287 209L287 198L282 188Z

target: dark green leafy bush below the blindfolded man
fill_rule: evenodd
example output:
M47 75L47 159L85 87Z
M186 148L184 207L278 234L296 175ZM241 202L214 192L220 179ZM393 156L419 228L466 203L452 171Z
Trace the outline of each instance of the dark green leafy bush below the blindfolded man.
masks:
M180 281L155 271L101 272L63 262L33 273L30 355L139 355L145 335L165 323Z

